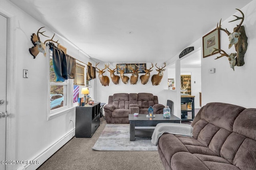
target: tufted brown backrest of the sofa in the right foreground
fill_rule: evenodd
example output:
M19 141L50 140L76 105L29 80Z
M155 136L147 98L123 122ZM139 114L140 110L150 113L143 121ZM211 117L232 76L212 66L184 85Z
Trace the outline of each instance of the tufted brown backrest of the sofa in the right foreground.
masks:
M240 169L256 169L256 109L209 103L193 137Z

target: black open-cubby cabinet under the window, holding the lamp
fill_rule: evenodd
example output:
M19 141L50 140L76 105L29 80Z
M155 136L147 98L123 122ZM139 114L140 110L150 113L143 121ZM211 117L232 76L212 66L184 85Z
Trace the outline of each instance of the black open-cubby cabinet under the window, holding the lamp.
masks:
M76 106L76 137L90 138L100 126L100 102Z

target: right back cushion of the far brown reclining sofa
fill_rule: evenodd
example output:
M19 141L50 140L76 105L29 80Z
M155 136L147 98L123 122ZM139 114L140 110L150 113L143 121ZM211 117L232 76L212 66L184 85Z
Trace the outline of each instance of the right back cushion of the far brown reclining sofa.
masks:
M154 106L154 95L151 93L138 93L138 106L140 108L148 108Z

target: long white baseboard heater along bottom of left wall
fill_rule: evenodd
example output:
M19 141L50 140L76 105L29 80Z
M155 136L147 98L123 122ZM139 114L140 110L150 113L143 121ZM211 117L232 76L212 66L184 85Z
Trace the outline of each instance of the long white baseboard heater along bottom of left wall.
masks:
M75 136L75 129L68 132L64 137L60 138L57 142L46 148L42 153L35 156L31 162L32 164L22 164L17 170L35 170L41 166L50 156L52 156L57 150L64 146L70 139ZM36 164L39 162L39 164Z

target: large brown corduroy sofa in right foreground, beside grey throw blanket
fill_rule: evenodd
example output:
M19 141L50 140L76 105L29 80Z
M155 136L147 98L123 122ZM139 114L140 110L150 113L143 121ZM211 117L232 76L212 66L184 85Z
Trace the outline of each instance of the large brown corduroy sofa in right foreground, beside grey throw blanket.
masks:
M209 103L191 125L193 137L159 138L166 170L256 170L256 109Z

